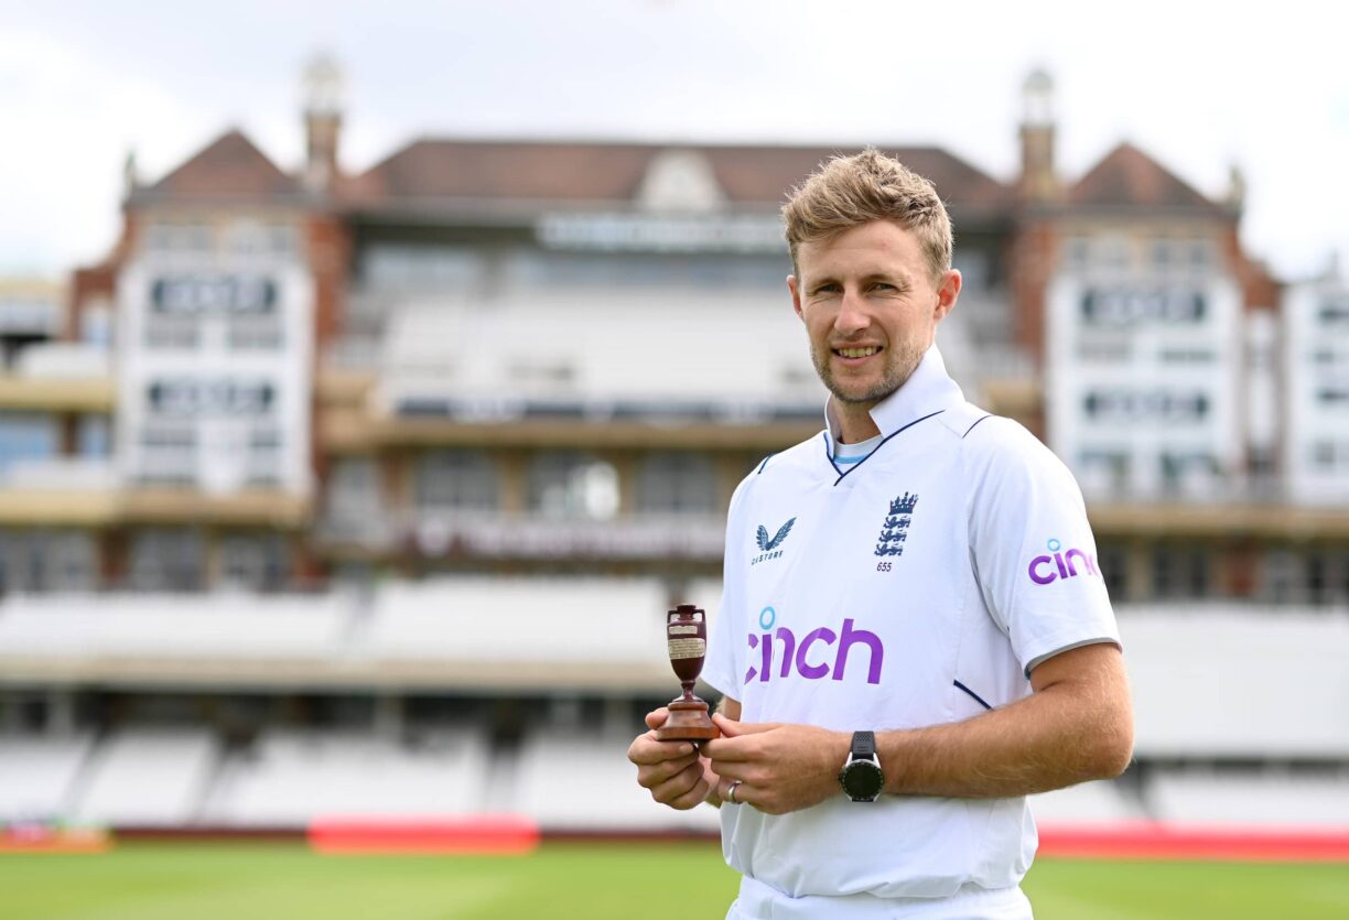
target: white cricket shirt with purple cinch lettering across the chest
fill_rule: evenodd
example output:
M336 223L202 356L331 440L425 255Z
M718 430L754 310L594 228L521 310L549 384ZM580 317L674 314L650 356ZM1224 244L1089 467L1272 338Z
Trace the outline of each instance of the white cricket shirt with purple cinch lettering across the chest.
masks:
M731 499L703 679L742 719L849 732L960 722L1029 695L1031 668L1056 652L1118 642L1058 457L967 403L936 347L871 417L882 441L861 463L831 460L824 430ZM1024 797L722 807L727 862L789 897L1008 888L1036 842Z

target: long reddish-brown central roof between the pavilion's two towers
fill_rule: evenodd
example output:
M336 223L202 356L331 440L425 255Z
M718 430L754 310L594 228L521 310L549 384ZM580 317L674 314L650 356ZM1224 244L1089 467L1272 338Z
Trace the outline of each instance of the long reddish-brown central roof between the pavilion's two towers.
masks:
M424 139L355 177L347 190L367 205L411 198L630 202L652 162L670 148L703 156L730 202L774 208L819 163L853 150ZM1006 186L943 150L889 152L932 179L942 197L956 206L996 209L1010 201Z

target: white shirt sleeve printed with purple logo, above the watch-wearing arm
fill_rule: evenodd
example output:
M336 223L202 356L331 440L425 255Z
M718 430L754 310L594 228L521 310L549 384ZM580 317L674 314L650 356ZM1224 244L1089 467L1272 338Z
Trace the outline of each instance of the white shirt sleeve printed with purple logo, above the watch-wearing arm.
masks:
M1120 643L1082 491L1016 422L971 432L970 554L985 604L1027 676L1045 658Z

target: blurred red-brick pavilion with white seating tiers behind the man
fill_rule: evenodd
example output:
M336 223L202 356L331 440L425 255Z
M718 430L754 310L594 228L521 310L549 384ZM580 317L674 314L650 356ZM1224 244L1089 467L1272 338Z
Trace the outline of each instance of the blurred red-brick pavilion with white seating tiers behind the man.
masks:
M299 169L239 131L128 166L121 236L63 302L0 286L0 715L49 745L13 742L47 782L30 812L287 824L333 807L313 770L349 804L371 764L440 782L425 757L463 772L449 811L575 801L557 761L608 801L672 692L661 611L715 607L733 488L822 426L778 208L851 148L424 139L349 174L339 74L308 89ZM1340 684L1290 685L1298 718L1245 746L1183 739L1280 616L1341 680L1349 289L1242 250L1240 175L1214 200L1121 144L1066 178L1052 101L1033 74L1010 182L886 147L955 223L947 364L1083 486L1143 650L1140 758L1341 769ZM1197 685L1167 656L1210 635L1201 603L1245 625ZM171 773L171 813L127 811L138 770ZM672 820L643 807L599 819Z

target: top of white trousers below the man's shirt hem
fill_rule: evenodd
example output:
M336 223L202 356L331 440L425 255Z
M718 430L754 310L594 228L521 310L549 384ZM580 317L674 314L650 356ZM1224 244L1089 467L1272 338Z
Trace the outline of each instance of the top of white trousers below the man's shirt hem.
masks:
M1020 888L965 885L951 897L882 898L873 894L792 897L741 880L741 896L726 920L1032 920L1031 902Z

